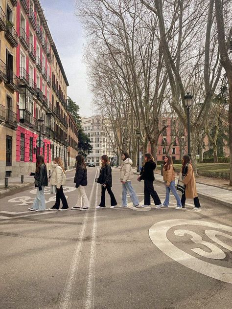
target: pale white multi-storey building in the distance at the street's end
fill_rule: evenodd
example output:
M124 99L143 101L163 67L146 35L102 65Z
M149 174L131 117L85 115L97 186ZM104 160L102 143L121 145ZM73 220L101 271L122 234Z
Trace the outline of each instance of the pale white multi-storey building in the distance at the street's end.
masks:
M114 160L114 132L110 128L107 130L102 123L101 116L92 116L82 118L83 131L90 137L93 146L92 153L87 156L87 163L94 162L96 166L100 165L101 156L108 155L111 161Z

